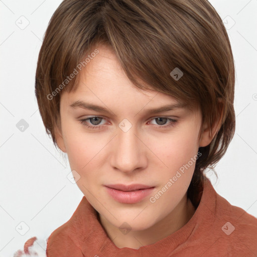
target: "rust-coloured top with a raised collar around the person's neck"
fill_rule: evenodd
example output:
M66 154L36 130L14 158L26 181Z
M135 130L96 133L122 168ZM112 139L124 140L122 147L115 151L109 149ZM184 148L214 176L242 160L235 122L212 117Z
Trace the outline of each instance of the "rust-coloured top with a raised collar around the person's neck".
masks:
M28 242L34 241L29 239L25 243L27 248ZM255 257L257 219L218 195L206 178L200 203L182 228L139 249L118 248L105 233L98 213L83 196L72 217L49 236L46 254L47 257Z

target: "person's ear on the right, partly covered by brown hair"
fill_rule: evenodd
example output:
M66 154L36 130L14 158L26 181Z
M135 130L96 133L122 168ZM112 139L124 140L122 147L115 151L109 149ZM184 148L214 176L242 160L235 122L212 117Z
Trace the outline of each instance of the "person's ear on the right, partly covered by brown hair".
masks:
M221 98L218 98L218 118L216 119L216 121L212 124L212 127L208 126L207 124L205 124L203 126L203 131L202 131L202 135L199 141L199 147L206 147L208 146L212 139L215 137L216 133L218 132L218 130L220 129L221 126L221 121L222 121L222 117L223 117L223 112L224 112L224 104L221 101Z

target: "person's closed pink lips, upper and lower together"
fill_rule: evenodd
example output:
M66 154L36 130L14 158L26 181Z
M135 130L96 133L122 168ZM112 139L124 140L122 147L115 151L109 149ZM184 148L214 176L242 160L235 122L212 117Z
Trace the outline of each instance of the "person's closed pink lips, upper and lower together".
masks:
M140 189L136 191L121 191L113 188L106 187L109 195L120 203L137 203L142 201L146 196L151 194L154 187Z

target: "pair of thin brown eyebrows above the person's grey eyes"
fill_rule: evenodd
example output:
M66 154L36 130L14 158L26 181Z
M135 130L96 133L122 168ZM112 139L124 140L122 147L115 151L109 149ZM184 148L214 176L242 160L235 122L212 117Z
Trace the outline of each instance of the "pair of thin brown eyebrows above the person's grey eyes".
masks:
M83 102L81 100L77 100L77 101L73 102L70 105L70 107L72 107L72 108L79 107L79 108L86 109L86 110L94 110L94 111L98 111L98 112L110 113L110 111L103 106ZM174 110L174 109L182 109L185 107L186 107L186 104L178 102L178 103L163 105L163 106L156 107L156 108L149 108L149 109L146 109L144 112L147 114L153 114L153 113L165 112L165 111Z

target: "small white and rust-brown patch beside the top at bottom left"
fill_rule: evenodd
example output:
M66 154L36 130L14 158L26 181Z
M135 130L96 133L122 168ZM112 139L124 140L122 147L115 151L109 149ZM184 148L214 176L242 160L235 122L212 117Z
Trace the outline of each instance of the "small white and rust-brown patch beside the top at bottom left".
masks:
M38 239L36 236L28 239L24 244L24 249L17 250L13 257L47 257L46 244L48 238Z

